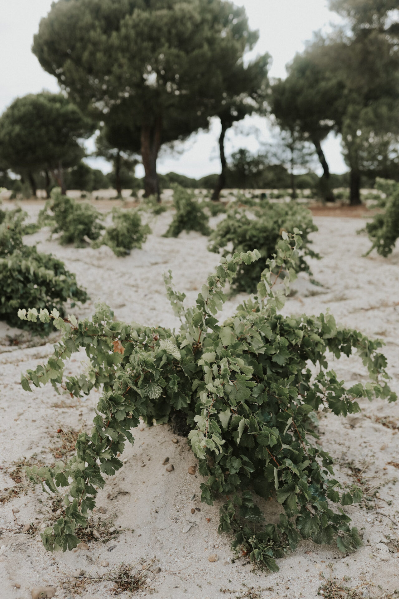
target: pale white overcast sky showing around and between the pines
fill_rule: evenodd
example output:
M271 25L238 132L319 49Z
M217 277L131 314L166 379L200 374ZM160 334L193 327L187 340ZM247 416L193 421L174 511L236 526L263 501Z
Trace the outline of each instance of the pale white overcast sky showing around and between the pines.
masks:
M327 0L241 0L248 14L249 25L258 29L260 38L253 55L269 52L273 63L271 77L285 77L285 65L301 52L304 43L312 38L313 31L328 31L338 17L330 13ZM12 0L3 2L0 13L0 113L17 96L37 93L42 89L56 92L59 87L55 77L43 71L31 52L33 34L39 20L51 7L51 0ZM159 172L175 171L191 177L202 177L218 172L217 138L220 125L215 121L211 130L188 140L175 155L165 153L159 159ZM260 144L270 139L266 119L247 118L230 129L226 139L226 152L246 147L256 152ZM333 173L347 170L340 153L340 142L332 135L324 141L324 152ZM90 159L90 164L103 171L110 167L100 159ZM136 174L141 176L139 165Z

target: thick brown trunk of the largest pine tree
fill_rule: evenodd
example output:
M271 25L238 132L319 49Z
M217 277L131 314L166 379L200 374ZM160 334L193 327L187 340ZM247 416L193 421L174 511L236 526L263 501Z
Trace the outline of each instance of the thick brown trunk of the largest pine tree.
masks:
M156 119L154 126L142 125L141 158L144 166L144 197L156 195L161 201L157 175L157 157L161 147L162 121Z

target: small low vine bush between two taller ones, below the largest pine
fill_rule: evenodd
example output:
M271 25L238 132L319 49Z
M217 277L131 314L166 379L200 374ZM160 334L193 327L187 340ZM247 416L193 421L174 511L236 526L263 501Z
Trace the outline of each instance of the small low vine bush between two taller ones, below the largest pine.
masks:
M93 247L105 244L111 247L116 256L126 256L133 247L141 247L151 233L147 224L142 225L141 215L137 210L112 208L112 223L113 226L106 229Z

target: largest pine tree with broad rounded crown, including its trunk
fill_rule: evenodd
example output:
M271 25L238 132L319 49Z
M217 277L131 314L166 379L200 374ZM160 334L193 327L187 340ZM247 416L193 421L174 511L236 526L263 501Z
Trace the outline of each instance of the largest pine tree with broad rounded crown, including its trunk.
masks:
M161 144L208 128L225 77L243 68L257 38L245 10L222 0L60 0L41 20L33 53L106 126L135 123L129 146L143 148L149 195L159 191Z

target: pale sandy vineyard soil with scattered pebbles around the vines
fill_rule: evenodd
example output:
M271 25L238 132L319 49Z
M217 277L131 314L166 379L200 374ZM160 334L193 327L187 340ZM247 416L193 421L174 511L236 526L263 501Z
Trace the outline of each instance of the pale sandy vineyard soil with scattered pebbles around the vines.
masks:
M32 218L41 205L39 201L26 204ZM166 213L154 221L153 234L143 249L127 258L116 258L107 247L61 247L54 240L47 241L45 231L27 238L26 243L38 243L40 250L62 258L77 274L78 283L86 286L91 300L74 310L79 316L92 313L95 302L101 300L111 305L119 319L177 326L162 273L172 269L176 288L191 302L218 256L206 252L206 238L199 234L162 238L169 219ZM310 314L328 308L339 322L382 337L392 388L399 392L399 248L388 259L374 253L364 258L369 242L356 234L359 219L323 216L315 221L319 232L312 237L323 259L314 261L312 268L323 286L301 280L284 311ZM237 296L227 302L224 313L231 313L241 299ZM329 577L336 577L339 585L358 587L356 597L390 597L399 589L399 405L383 401L364 400L363 413L347 419L320 415L322 443L336 459L337 477L348 483L361 479L366 494L361 505L344 508L364 537L363 548L352 555L302 541L295 553L279 560L278 573L252 570L245 557L234 561L229 536L217 533L219 506L200 503L200 477L188 474L188 467L196 464L193 453L184 438L173 443L175 435L166 425L134 431L135 446L127 447L124 468L99 493L102 510L94 519L102 538L89 541L89 549L46 552L39 533L23 533L22 527L31 522L35 528L44 526L56 516L58 506L20 476L19 465L49 464L54 455L68 450L73 437L57 434L57 430L90 428L99 394L93 392L77 401L57 395L50 387L23 392L21 371L44 361L51 344L10 345L10 337L16 334L16 329L1 326L0 494L8 499L0 507L2 598L27 599L33 587L48 585L56 588L56 598L111 597L112 582L73 576L80 570L91 577L110 574L121 562L136 564L134 571L148 566L141 570L147 582L137 591L139 597L155 592L157 597L176 599L313 599ZM356 358L331 360L331 366L346 380L366 380L366 371ZM75 355L68 373L82 369L84 356ZM165 470L165 458L173 464L172 472ZM269 506L273 512L273 504ZM214 553L218 561L209 562ZM156 568L161 571L156 573ZM251 588L254 591L249 592Z

